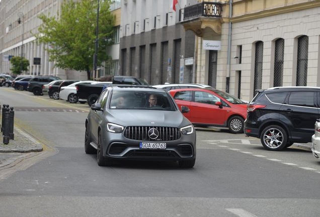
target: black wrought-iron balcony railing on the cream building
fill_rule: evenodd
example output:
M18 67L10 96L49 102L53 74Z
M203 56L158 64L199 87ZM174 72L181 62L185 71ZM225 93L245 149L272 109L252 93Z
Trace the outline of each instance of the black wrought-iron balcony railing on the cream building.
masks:
M184 8L184 21L199 17L222 17L222 4L212 2L201 2L196 5Z

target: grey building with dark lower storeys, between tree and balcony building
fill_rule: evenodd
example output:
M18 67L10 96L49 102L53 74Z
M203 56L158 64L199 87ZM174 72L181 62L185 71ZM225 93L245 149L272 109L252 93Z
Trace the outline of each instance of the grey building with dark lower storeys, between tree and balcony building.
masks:
M121 6L120 75L149 84L195 82L195 35L184 32L179 1L124 0Z

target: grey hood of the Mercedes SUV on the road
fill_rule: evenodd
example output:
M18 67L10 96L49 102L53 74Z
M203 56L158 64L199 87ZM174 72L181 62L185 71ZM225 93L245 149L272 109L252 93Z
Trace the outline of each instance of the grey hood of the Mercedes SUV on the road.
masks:
M108 122L122 126L185 127L191 123L181 112L147 110L108 110Z

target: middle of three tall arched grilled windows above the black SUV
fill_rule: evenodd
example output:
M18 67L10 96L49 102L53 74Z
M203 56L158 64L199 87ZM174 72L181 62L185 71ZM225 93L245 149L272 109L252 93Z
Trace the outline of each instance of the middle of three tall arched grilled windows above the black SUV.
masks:
M283 57L284 57L284 39L276 40L274 55L274 78L273 86L282 86L283 82Z

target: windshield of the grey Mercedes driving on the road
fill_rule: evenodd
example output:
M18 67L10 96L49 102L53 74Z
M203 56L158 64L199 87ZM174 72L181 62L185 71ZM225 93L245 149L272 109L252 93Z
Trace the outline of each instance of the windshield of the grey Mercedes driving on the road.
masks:
M167 92L154 91L113 91L110 109L176 111Z

